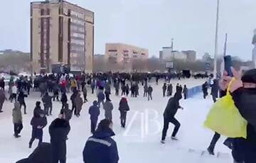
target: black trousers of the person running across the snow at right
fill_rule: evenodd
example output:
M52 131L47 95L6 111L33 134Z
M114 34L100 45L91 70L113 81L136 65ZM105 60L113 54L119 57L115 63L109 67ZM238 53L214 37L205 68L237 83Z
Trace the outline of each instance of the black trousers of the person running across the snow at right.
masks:
M169 128L169 123L173 123L175 125L174 131L171 134L172 137L176 136L176 134L178 133L178 129L181 127L181 123L179 123L178 120L176 120L176 118L174 118L174 117L164 118L164 129L162 132L161 140L165 140L165 138L166 138L166 133Z

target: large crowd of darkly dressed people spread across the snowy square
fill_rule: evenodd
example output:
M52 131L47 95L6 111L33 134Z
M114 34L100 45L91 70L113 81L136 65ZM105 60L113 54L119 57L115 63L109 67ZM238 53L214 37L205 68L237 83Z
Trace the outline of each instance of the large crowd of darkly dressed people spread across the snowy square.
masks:
M256 70L252 69L246 72L242 79L236 77L235 84L230 89L235 105L238 107L242 116L248 122L247 139L235 138L228 139L226 144L233 150L233 157L238 163L251 163L256 154L256 125L255 125L255 102L252 99L255 97L256 89ZM161 142L165 143L166 132L169 128L169 123L173 123L175 128L171 135L172 140L178 140L176 134L181 126L181 123L175 118L175 115L180 106L179 101L188 98L188 88L186 85L176 85L174 93L173 85L170 83L172 77L180 79L181 74L127 74L127 73L99 73L99 74L40 74L36 77L20 77L16 81L11 78L8 83L9 101L14 102L12 112L14 123L14 137L21 137L23 127L21 108L26 114L26 98L30 95L30 89L40 91L41 101L36 101L36 106L33 110L33 118L31 118L31 140L28 142L28 147L32 147L33 141L38 140L38 147L26 159L18 161L18 163L31 163L39 159L44 159L46 162L65 163L66 162L66 141L70 132L70 120L72 116L80 116L83 103L87 103L87 94L97 94L97 99L92 102L88 113L90 114L90 131L92 136L88 138L85 148L82 152L85 163L109 162L114 163L119 161L117 151L117 143L111 138L114 136L112 130L112 111L114 109L111 94L114 88L114 95L120 96L119 112L120 124L122 128L126 126L127 113L130 110L127 96L137 98L139 96L139 88L143 88L143 97L148 101L153 99L152 78L155 78L156 85L159 84L159 79L164 80L161 86L163 96L169 96L170 99L164 110L164 128L162 130ZM200 77L197 75L196 77ZM195 78L196 78L195 77ZM205 76L202 75L204 78ZM228 77L224 76L225 80L218 81L214 79L203 84L203 98L208 96L208 87L210 86L213 102L220 97L225 96L227 89ZM5 94L4 80L0 81L0 113L3 112L4 101L7 100ZM3 86L4 85L4 86ZM87 90L89 89L90 90ZM53 94L53 96L51 96ZM71 94L68 99L68 94ZM174 96L172 96L174 94ZM50 143L43 142L43 128L48 124L47 116L52 115L53 101L60 101L62 107L58 118L50 123L48 131L50 133ZM71 106L68 101L71 101ZM42 103L42 106L41 106ZM105 119L99 121L100 108L105 111ZM208 152L214 154L213 150L220 135L215 133L212 142L208 147ZM244 151L242 151L244 150ZM101 153L100 155L97 153Z

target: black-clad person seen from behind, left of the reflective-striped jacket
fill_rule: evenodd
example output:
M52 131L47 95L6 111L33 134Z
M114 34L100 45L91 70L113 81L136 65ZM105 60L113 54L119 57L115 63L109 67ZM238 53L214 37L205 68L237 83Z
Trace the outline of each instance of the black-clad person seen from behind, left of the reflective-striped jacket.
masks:
M65 163L68 140L68 133L70 132L69 120L72 116L72 111L62 110L58 118L53 120L49 126L50 145L53 147L53 163Z

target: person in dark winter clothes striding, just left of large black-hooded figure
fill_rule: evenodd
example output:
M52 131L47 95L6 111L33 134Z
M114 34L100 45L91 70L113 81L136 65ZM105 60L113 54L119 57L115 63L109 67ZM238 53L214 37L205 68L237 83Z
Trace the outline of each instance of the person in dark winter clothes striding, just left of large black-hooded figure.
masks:
M45 113L41 110L34 111L34 116L31 119L32 135L29 141L29 148L32 147L33 141L38 139L38 145L43 141L43 128L47 125Z

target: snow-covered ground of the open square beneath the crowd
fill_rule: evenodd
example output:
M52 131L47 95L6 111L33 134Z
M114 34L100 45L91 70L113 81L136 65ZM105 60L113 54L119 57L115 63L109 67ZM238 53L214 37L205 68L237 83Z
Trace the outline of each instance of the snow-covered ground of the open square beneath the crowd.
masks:
M180 84L186 84L189 87L203 84L203 80L186 79L178 81ZM177 81L171 81L174 88ZM151 83L153 86L153 101L147 101L143 98L143 88L139 89L139 97L128 97L131 111L127 114L127 128L122 129L119 125L119 111L118 104L120 96L114 96L114 89L110 99L114 104L113 122L114 122L114 140L117 142L119 150L119 162L121 163L229 163L231 161L230 151L223 145L225 137L221 137L215 147L215 153L228 153L228 157L219 158L203 154L201 152L189 152L192 150L206 150L208 144L213 137L213 132L203 127L203 121L213 101L210 96L203 100L203 95L198 94L193 99L186 101L181 100L183 111L178 111L176 118L181 123L181 128L178 131L178 141L173 141L170 138L171 132L174 128L169 125L168 135L166 137L166 144L162 145L161 130L163 125L163 112L169 98L162 97L161 86ZM88 88L88 91L90 89ZM0 162L11 163L18 159L28 157L33 149L38 144L37 140L33 143L32 149L28 149L28 141L31 138L30 120L33 114L33 108L36 101L40 99L38 92L33 92L31 96L26 99L27 115L23 115L23 130L21 137L14 138L14 129L11 117L11 110L13 104L9 101L4 103L4 113L0 113ZM92 101L95 100L95 94L89 94L88 103L82 107L80 118L73 117L70 121L71 130L67 141L67 163L82 163L82 150L85 146L87 137L90 136L90 117L88 115L88 108ZM70 102L70 101L69 101ZM61 104L59 102L53 103L53 116L48 117L48 124L58 117ZM23 110L22 110L23 112ZM104 111L101 108L100 119L104 118ZM49 142L48 125L44 129L43 141Z

